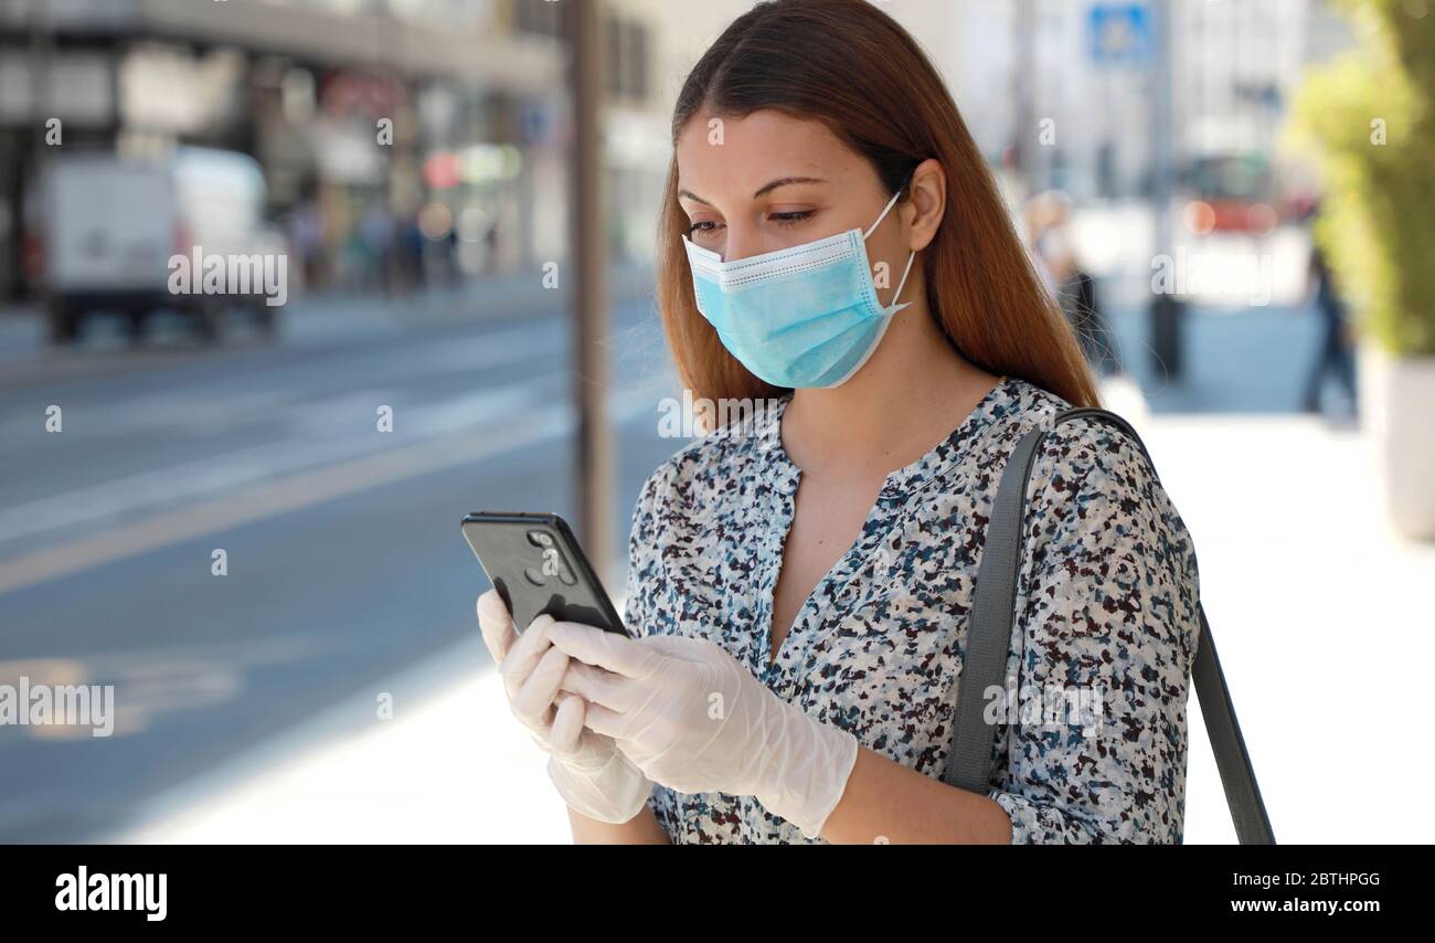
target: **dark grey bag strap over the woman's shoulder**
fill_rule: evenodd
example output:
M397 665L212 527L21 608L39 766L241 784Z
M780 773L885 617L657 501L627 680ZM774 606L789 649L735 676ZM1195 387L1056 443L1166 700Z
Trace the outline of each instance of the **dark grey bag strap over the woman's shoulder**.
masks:
M1141 446L1141 452L1157 475L1155 462L1147 452L1145 442L1125 419L1106 409L1079 406L1068 409L1049 423L1032 429L1012 451L1002 472L992 518L987 524L986 548L982 551L982 567L977 571L976 599L971 606L971 629L967 637L967 652L961 667L961 683L957 686L957 706L953 713L951 749L947 751L947 766L943 782L969 792L986 795L992 788L992 766L996 759L996 731L1002 725L987 723L983 718L984 692L990 688L1006 689L1006 666L1012 652L1012 621L1016 606L1016 580L1022 566L1022 518L1026 505L1026 485L1032 465L1042 441L1056 423L1066 419L1089 416L1116 426ZM1159 475L1157 475L1159 481ZM1225 675L1215 653L1215 639L1205 621L1205 609L1200 607L1201 637L1195 650L1195 665L1191 669L1195 696L1201 703L1201 716L1215 754L1215 766L1221 774L1225 801L1236 824L1236 835L1243 845L1276 844L1276 835L1266 815L1266 804L1256 784L1246 741L1236 721L1236 706L1225 686Z

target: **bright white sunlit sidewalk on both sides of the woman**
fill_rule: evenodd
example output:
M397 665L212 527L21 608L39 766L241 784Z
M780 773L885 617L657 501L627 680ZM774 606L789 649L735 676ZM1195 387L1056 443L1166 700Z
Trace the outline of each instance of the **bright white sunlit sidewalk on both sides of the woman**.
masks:
M1108 405L1138 428L1195 540L1277 841L1435 841L1428 817L1403 810L1435 774L1416 736L1435 662L1435 545L1392 531L1373 444L1307 416L1152 416L1119 388ZM115 840L568 841L476 626L393 686L432 693L373 721L366 692L161 797ZM1194 693L1188 728L1185 840L1234 841Z

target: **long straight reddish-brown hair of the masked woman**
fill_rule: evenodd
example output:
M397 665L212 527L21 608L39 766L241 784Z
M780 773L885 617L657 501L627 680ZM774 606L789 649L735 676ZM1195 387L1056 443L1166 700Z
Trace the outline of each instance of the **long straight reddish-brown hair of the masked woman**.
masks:
M956 102L907 30L867 0L771 0L732 22L677 95L674 155L657 234L667 343L695 398L785 393L728 353L693 297L677 202L677 136L703 105L728 118L773 109L824 122L888 194L921 161L947 177L941 225L921 253L927 304L970 363L1019 376L1073 406L1099 406L1076 336L1027 255Z

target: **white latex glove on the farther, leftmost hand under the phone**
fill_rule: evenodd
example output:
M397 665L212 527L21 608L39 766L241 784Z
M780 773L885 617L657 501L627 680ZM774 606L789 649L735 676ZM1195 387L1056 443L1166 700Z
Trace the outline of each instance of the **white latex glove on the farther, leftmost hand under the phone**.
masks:
M584 726L583 698L560 690L570 659L548 640L554 624L552 616L538 616L519 636L497 590L478 597L478 626L504 679L508 708L548 754L548 778L563 801L600 822L626 822L643 811L653 782L611 736Z

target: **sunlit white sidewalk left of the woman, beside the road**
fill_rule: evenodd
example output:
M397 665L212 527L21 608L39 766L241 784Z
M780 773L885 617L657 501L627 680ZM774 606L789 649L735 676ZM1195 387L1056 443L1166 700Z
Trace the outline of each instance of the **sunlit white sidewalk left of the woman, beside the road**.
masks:
M390 689L393 719L376 719ZM102 841L554 844L571 841L545 756L468 642L156 798Z

